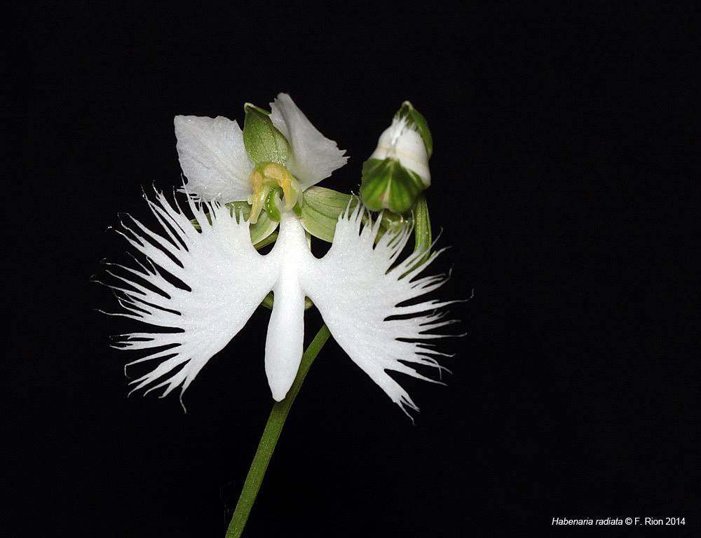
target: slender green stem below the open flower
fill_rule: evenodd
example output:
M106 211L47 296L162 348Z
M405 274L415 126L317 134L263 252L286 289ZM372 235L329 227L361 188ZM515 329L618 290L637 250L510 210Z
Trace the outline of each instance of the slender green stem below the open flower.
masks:
M248 514L256 500L258 490L265 476L265 471L268 469L268 463L273 455L273 450L275 450L275 444L278 443L280 432L283 429L283 425L285 425L287 413L290 413L294 397L297 396L297 392L299 392L311 364L326 343L326 340L329 339L330 334L326 325L323 325L321 329L319 329L314 340L312 340L311 344L309 344L309 347L307 347L302 355L297 377L294 378L294 382L292 383L292 387L290 387L290 391L287 392L287 396L285 396L283 401L275 402L273 410L268 417L268 422L263 430L260 443L258 443L256 455L251 462L251 468L248 469L248 475L243 484L241 496L238 497L236 509L233 511L231 523L229 523L229 529L226 530L226 538L239 538L243 532L243 527L245 527L246 521L248 520Z

